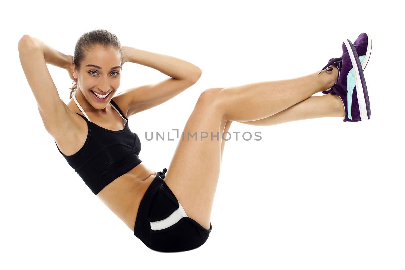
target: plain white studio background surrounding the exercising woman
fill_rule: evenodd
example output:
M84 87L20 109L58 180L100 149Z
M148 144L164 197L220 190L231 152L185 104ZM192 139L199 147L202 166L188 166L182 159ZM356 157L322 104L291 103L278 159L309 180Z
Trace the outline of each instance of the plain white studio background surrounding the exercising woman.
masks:
M7 2L2 11L0 268L404 269L404 39L393 2L32 1ZM141 138L182 130L207 88L320 71L341 56L344 39L362 32L373 39L364 72L371 119L232 123L230 132L260 131L262 140L226 143L207 242L151 251L60 155L19 62L24 34L73 54L79 36L94 29L203 70L194 86L130 117ZM67 103L68 73L48 68ZM118 92L166 78L127 62ZM177 141L143 139L140 158L161 171Z

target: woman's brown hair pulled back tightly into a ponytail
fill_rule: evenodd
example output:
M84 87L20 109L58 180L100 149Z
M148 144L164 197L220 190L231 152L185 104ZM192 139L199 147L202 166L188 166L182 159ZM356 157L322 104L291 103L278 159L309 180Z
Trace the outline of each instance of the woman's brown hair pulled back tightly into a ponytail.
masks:
M80 69L81 62L83 61L83 58L85 57L85 53L87 52L87 50L91 49L95 45L102 45L104 48L113 46L121 53L121 65L122 65L124 54L122 52L121 42L119 42L119 39L115 34L111 34L107 30L98 29L90 32L85 32L77 40L75 45L75 54L73 55L73 62L75 62L77 71L79 71ZM72 93L77 89L76 82L73 81L73 83L74 85L70 87L71 91L69 99L72 98Z

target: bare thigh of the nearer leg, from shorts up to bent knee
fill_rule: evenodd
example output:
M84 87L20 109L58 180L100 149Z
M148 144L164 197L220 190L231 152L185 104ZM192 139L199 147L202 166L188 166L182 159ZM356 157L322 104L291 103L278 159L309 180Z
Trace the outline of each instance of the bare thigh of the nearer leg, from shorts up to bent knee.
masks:
M227 122L221 111L220 89L208 89L201 94L185 124L164 180L185 213L205 229L211 225L211 209L220 175L222 131ZM203 138L201 132L208 137ZM191 137L194 133L196 136Z

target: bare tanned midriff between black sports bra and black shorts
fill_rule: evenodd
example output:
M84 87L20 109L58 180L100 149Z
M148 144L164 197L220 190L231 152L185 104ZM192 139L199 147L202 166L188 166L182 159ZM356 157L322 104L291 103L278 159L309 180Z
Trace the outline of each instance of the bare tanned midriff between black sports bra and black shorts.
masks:
M139 204L155 177L156 171L140 163L105 186L97 197L134 231Z

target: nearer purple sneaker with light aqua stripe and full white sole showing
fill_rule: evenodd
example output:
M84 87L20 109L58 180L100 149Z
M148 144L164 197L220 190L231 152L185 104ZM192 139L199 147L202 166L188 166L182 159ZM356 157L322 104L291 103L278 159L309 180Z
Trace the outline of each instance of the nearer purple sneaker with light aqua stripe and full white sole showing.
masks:
M342 47L343 56L341 60L334 58L334 61L331 59L328 63L328 65L335 63L334 65L339 70L338 81L330 88L329 92L331 94L337 94L342 99L345 107L345 118L343 118L343 122L369 120L369 95L367 93L360 58L350 40L346 39ZM328 71L326 67L324 69ZM328 90L323 92L327 91Z

